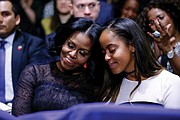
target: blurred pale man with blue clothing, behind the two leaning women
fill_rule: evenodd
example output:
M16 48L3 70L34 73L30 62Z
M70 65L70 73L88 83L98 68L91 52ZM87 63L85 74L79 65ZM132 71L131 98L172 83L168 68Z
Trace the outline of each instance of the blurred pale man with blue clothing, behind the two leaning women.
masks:
M103 25L113 18L112 6L99 0L71 0L71 14L74 17L87 17Z

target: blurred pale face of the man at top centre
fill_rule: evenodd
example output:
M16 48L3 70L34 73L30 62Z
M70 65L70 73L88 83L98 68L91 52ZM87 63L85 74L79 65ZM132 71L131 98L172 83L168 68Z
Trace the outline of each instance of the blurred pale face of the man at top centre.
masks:
M72 0L70 7L74 17L86 17L94 21L100 12L100 3L97 0Z

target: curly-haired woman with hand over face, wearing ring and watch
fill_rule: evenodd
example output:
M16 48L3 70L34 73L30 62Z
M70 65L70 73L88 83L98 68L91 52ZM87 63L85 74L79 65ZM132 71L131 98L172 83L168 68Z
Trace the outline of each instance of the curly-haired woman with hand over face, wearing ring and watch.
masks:
M152 0L138 16L137 23L152 40L161 64L180 75L180 11L178 2ZM154 36L158 33L158 36Z

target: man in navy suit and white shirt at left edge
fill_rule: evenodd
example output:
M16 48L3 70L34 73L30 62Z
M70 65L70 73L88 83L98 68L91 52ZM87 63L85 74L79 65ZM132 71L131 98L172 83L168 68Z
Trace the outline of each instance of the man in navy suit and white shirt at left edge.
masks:
M0 79L5 81L5 101L0 101L3 103L12 101L22 70L28 64L41 63L45 59L44 40L18 30L20 21L15 4L10 0L0 0L0 44L2 44L1 41L6 43L3 71L5 75L4 79ZM0 92L3 93L2 90Z

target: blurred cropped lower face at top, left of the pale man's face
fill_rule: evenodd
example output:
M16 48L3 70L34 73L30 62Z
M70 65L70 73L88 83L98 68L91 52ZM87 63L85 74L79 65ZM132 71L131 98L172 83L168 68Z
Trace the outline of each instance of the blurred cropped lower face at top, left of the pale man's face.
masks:
M56 8L61 14L69 14L71 0L56 0Z

